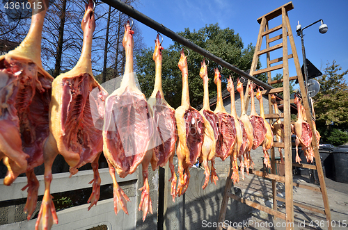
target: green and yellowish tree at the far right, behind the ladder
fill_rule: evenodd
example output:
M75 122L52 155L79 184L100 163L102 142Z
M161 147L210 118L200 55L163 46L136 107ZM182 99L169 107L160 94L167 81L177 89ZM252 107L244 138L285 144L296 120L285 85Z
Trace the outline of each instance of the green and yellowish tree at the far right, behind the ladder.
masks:
M320 91L313 97L317 129L322 140L333 145L342 145L348 138L348 86L344 79L348 70L341 71L335 60L327 63L324 74L317 79Z

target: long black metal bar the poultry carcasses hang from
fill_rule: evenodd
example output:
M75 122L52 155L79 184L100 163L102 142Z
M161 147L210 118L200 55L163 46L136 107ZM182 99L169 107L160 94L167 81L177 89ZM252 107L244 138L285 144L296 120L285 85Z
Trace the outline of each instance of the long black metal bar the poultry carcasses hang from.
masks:
M166 26L164 26L163 24L159 24L158 22L151 19L150 17L144 15L143 13L140 13L138 10L134 9L132 6L129 6L126 3L122 1L118 1L118 0L102 0L102 1L108 4L109 6L112 6L113 8L120 10L122 13L129 15L129 17L133 17L134 19L145 24L146 26L153 28L155 31L166 35L168 38L171 38L172 40L175 40L176 42L183 44L185 47L188 47L189 49L196 51L198 54L201 54L209 58L210 60L214 60L215 63L223 67L226 67L239 75L244 76L246 79L249 79L257 83L258 85L261 85L263 88L267 90L273 89L271 85L268 85L267 83L264 83L263 81L260 81L259 79L256 79L254 76L251 76L247 74L246 72L244 72L243 70L238 69L234 65L227 63L225 60L222 60L222 58L215 56L214 54L210 53L209 51L201 47L198 47L198 45L194 44L193 42L187 40L186 38L166 28Z

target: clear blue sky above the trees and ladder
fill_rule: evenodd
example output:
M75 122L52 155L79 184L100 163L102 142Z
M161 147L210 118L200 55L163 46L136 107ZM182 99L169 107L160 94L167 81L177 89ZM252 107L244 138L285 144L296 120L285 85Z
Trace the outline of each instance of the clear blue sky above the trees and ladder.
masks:
M177 1L159 1L159 0L141 0L136 6L144 15L154 19L160 24L174 32L184 31L189 28L190 31L204 27L206 24L219 23L221 28L232 28L238 33L244 42L244 47L252 43L254 46L258 38L260 24L257 19L269 13L271 10L283 6L289 1L229 1L229 0L177 0ZM333 60L342 67L342 70L348 69L348 1L347 0L294 0L292 1L294 9L288 12L297 54L300 64L303 63L301 51L301 38L296 35L297 22L304 26L323 19L327 24L328 31L325 34L319 33L317 23L303 31L304 44L306 48L306 57L319 70L326 67L326 63L332 63ZM269 22L270 28L278 26L281 23L279 19ZM145 44L148 47L154 47L157 31L145 26L139 25L143 33ZM271 37L278 35L273 33ZM279 42L278 42L279 43ZM278 44L274 42L273 45ZM167 48L173 44L170 38L164 36L163 46ZM264 41L263 41L264 44ZM290 44L288 44L290 46ZM262 48L263 49L263 48ZM280 53L271 56L271 59L281 56ZM291 51L289 51L291 54ZM278 56L279 55L279 56ZM266 67L266 56L261 56L260 60L263 67ZM290 76L295 76L296 71L292 65L294 61L290 59ZM233 63L231 63L233 64ZM345 77L348 82L348 76Z

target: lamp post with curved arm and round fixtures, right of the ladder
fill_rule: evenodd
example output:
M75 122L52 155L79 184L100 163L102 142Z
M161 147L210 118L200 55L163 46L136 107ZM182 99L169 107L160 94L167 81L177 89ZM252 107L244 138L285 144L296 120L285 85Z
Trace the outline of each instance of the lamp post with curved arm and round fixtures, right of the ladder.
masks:
M314 24L316 24L317 22L322 22L322 24L319 26L319 32L320 33L326 33L327 31L327 26L326 24L323 23L323 20L322 19L319 19L317 20L316 22L313 22L312 24L309 24L308 26L305 26L303 28L301 28L301 24L297 24L296 26L296 32L297 32L297 35L301 37L301 44L302 44L302 56L303 56L303 72L305 74L305 81L306 81L306 94L307 94L307 97L308 97L308 102L309 102L309 105L310 105L310 114L313 115L313 108L312 108L312 103L310 101L310 97L308 95L308 68L307 68L307 61L306 61L306 51L305 51L305 48L304 48L304 43L303 43L303 30L305 28L308 28L309 26L313 26Z

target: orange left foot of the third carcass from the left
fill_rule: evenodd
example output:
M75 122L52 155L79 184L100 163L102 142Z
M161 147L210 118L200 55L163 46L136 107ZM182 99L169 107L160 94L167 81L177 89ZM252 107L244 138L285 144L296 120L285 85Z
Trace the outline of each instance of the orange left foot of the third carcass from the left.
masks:
M130 199L127 197L127 195L125 195L125 192L123 192L122 188L118 185L116 181L115 168L113 167L113 165L111 165L111 163L109 163L109 161L108 165L109 173L113 181L113 209L116 215L118 214L118 211L120 211L121 209L128 215L127 202L130 202Z

